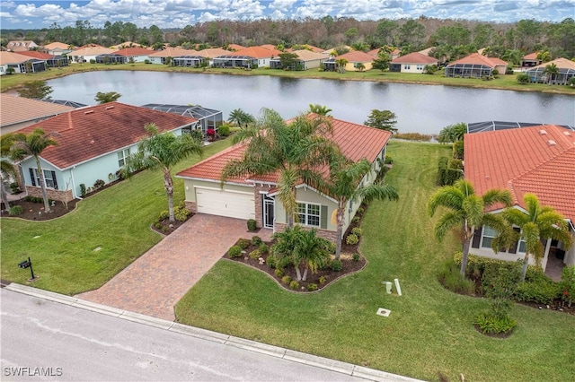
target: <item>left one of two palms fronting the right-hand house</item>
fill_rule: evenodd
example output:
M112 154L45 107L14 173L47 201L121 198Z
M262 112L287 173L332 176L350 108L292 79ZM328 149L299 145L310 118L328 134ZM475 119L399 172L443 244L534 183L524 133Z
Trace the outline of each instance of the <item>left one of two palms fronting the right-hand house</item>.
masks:
M447 207L435 225L436 239L443 239L447 232L454 227L462 228L463 257L461 261L461 276L465 275L467 257L471 240L477 228L488 225L494 230L504 232L507 224L503 219L493 213L485 213L485 208L493 204L511 205L511 193L507 189L491 189L483 195L475 195L472 184L459 179L453 186L441 187L428 202L429 216L433 216L439 206Z

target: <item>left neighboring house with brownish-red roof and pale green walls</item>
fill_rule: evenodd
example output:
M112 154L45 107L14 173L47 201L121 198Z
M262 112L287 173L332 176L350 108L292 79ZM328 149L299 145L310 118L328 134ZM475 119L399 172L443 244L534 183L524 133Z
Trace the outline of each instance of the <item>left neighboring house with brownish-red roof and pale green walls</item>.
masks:
M144 126L150 123L160 132L181 135L196 129L198 120L110 102L68 111L20 132L41 128L55 135L57 145L42 152L40 163L49 198L69 201L82 196L82 185L88 188L97 180L116 180L128 155L136 152L137 144L146 138ZM18 165L28 195L41 196L34 159L26 158Z

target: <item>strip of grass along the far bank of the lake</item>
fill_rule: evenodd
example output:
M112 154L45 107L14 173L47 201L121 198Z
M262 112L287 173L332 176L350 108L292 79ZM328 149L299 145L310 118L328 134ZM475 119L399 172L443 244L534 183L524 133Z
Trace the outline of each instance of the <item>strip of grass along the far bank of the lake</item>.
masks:
M234 74L234 75L273 75L279 77L292 78L323 78L332 80L352 80L352 81L380 81L380 82L406 82L422 83L430 85L463 86L470 88L488 88L512 91L542 91L562 94L575 94L575 88L564 85L549 86L544 83L518 84L517 74L500 75L499 78L491 81L482 81L470 78L446 78L438 72L433 75L409 74L409 73L382 73L378 70L368 70L367 72L346 72L344 74L336 72L319 72L317 69L305 71L284 71L279 69L261 68L251 71L242 69L220 69L220 68L193 68L167 65L146 65L126 64L126 65L102 65L102 64L73 64L63 68L52 68L46 72L36 74L12 74L2 76L0 83L1 91L20 86L23 82L35 80L49 80L68 74L82 72L102 71L102 70L137 70L152 72L177 72L195 74Z

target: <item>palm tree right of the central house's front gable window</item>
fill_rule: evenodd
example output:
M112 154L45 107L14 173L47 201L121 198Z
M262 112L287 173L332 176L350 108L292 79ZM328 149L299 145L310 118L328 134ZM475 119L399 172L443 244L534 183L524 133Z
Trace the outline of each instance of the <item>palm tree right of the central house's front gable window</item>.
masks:
M323 177L308 176L305 174L305 182L310 186L322 190L325 194L331 195L337 200L338 208L336 213L337 221L337 241L335 247L335 258L341 255L341 239L343 236L343 226L345 225L345 211L350 200L398 200L399 195L394 187L385 185L383 182L374 182L363 186L360 184L366 174L371 170L371 164L366 159L353 162L341 156L332 158L330 161L330 175L326 180Z

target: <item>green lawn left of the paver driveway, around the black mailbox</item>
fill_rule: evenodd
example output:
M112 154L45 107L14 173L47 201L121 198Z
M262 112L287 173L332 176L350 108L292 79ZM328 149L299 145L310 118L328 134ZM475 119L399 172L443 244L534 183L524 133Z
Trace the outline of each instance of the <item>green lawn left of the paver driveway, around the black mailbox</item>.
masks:
M230 140L210 144L204 157L229 144ZM199 157L190 157L176 170L197 161ZM184 197L183 181L174 178L174 184L178 203ZM167 209L162 173L143 171L79 202L61 218L3 218L2 279L25 283L30 271L18 268L18 263L31 256L34 273L40 276L34 287L70 295L98 288L162 239L149 227ZM102 249L94 251L96 247Z

